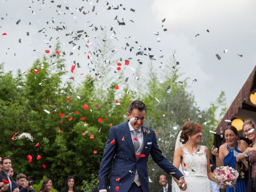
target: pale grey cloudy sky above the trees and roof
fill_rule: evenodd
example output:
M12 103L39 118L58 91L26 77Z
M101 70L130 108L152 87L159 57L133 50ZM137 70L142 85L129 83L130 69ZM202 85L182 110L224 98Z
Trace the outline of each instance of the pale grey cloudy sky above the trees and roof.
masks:
M0 0L0 62L5 63L5 71L15 72L18 68L28 71L36 58L46 54L45 50L54 52L54 45L59 40L61 51L66 53L66 69L70 71L73 61L81 66L74 74L79 81L78 76L88 73L88 63L94 57L90 51L102 49L96 42L102 32L106 32L104 40L113 46L102 53L105 54L102 58L110 60L113 67L117 67L111 62L114 58L123 61L132 58L126 69L121 62L122 70L130 77L132 90L143 89L136 87L137 80L132 79L133 73L138 74L138 59L143 62L139 73L143 81L149 62L161 73L160 66L164 68L175 52L179 70L184 73L180 80L197 79L196 83L189 83L189 91L194 93L201 108L208 107L222 90L230 104L255 66L255 7L254 0L109 0L108 5L103 0L44 0L44 4L43 0ZM18 20L21 21L16 24ZM125 25L119 25L118 21ZM65 29L56 31L57 26ZM84 30L88 37L77 33L79 30ZM153 34L157 31L158 36ZM2 35L4 33L6 35ZM77 34L82 36L74 40ZM69 44L71 40L75 44ZM151 50L144 50L145 47ZM111 50L115 50L114 58ZM224 50L228 51L224 53ZM148 55L136 56L139 51L154 55L156 60L150 60ZM72 75L69 73L67 80Z

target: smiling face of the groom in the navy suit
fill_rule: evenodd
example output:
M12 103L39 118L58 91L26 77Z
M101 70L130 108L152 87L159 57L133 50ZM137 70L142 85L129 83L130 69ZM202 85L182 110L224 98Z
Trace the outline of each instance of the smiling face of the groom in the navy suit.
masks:
M135 130L139 130L144 124L144 120L146 118L146 111L139 111L138 109L132 110L130 114L127 112L127 116L130 119L130 124Z

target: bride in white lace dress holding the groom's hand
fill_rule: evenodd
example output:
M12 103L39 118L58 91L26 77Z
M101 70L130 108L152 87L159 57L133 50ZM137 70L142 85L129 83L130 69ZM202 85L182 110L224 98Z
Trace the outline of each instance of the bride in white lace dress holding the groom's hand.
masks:
M206 146L198 145L201 137L199 124L185 122L180 134L180 142L185 145L176 148L174 152L173 165L179 168L181 164L188 185L186 192L211 192L210 180L216 182L210 170L210 152ZM177 182L175 178L174 180ZM174 189L173 192L180 190Z

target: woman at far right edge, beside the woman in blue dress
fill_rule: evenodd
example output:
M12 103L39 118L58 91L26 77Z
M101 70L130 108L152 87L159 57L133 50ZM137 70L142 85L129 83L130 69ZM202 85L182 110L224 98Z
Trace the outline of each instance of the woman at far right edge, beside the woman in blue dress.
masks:
M244 134L248 139L252 141L252 144L245 150L245 154L250 155L248 158L249 161L249 180L247 183L247 192L256 191L256 181L254 181L256 175L256 124L252 119L247 119L244 121L243 130ZM254 183L255 182L255 183Z

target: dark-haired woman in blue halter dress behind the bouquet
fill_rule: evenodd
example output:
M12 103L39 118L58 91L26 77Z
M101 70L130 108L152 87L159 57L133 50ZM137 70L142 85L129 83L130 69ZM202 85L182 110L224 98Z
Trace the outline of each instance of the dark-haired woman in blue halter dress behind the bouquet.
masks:
M224 129L224 137L226 143L220 146L219 151L217 148L212 149L212 154L216 156L217 166L230 166L235 168L237 160L242 161L246 165L247 161L242 152L248 148L248 144L244 140L238 141L239 134L236 128L232 125L227 126ZM239 156L235 157L234 151L236 151ZM227 192L245 192L246 183L245 179L238 179L236 180L236 189L234 189L234 187L227 187Z

